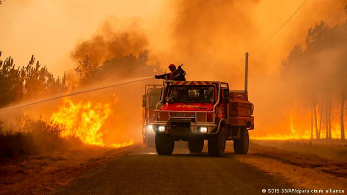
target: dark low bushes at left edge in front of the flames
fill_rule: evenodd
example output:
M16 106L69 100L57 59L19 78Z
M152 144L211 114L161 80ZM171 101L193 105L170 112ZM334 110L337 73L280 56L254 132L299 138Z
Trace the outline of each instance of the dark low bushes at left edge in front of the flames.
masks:
M5 129L0 124L0 157L17 157L38 154L44 151L63 149L80 144L77 139L61 139L63 126L44 121L33 120L26 115L15 119L16 127Z

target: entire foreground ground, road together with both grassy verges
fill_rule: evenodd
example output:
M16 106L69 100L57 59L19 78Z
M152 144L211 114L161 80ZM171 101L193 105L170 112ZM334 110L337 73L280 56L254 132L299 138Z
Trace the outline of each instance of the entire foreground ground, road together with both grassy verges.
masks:
M176 143L177 144L177 143ZM324 144L324 143L323 143ZM252 141L247 155L228 143L222 158L153 147L76 147L0 166L0 194L261 194L263 189L347 190L344 143ZM325 148L324 147L324 148ZM335 153L335 154L334 154ZM329 155L327 155L329 154Z

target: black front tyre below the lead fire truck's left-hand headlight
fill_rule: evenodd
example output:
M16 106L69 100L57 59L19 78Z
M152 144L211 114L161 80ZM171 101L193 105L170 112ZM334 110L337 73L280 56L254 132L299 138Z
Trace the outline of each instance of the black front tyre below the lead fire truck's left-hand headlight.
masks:
M173 153L174 140L169 134L156 133L155 143L159 155L171 155Z

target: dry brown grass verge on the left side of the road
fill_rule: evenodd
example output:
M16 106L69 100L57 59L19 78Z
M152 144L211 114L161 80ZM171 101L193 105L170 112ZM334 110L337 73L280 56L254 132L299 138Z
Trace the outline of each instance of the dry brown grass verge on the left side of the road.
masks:
M46 194L105 165L115 154L131 147L77 146L7 159L0 164L0 194Z

